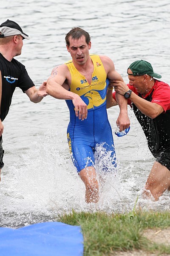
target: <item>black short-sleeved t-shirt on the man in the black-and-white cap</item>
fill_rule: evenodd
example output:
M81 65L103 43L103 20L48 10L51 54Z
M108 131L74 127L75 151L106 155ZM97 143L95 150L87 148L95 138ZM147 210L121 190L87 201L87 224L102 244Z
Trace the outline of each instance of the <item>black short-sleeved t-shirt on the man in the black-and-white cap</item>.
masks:
M33 81L28 76L26 68L14 58L8 61L0 53L0 71L2 75L2 99L0 106L0 118L3 121L8 114L11 105L12 95L16 87L26 91L34 86Z

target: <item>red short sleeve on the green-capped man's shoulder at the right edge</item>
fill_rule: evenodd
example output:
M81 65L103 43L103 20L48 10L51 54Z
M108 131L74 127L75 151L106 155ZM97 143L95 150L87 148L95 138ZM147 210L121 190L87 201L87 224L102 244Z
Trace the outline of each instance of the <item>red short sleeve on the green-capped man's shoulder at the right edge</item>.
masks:
M160 105L164 112L170 109L170 86L162 81L156 81L151 102Z

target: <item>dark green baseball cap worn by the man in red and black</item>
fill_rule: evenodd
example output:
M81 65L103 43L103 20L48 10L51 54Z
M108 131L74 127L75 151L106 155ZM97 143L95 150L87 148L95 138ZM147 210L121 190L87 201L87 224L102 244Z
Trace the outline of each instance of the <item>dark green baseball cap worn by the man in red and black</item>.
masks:
M153 76L155 78L161 78L162 76L153 72L153 67L152 65L147 62L147 61L134 61L132 64L130 64L130 66L128 67L128 69L130 69L133 73L133 76L142 76L142 75L149 75L149 76ZM128 71L127 69L127 71ZM127 72L128 74L128 72ZM128 75L132 75L132 74L128 74Z

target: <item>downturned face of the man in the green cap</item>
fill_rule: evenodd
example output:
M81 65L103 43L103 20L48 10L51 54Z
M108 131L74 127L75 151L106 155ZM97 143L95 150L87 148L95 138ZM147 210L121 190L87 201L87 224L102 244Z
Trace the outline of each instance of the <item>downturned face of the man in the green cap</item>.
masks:
M133 76L130 69L127 70L129 84L136 88L136 91L140 94L145 94L147 90L147 84L144 82L144 76ZM132 75L129 75L132 74Z

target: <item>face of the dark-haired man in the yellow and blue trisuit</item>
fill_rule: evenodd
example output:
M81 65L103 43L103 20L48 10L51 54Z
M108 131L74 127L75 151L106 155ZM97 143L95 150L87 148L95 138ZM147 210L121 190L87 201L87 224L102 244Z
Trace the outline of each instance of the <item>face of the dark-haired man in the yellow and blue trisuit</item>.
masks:
M85 36L82 35L79 39L69 38L70 45L67 45L67 50L70 52L73 63L83 65L89 57L89 49L91 49L91 42L88 44L85 41Z

